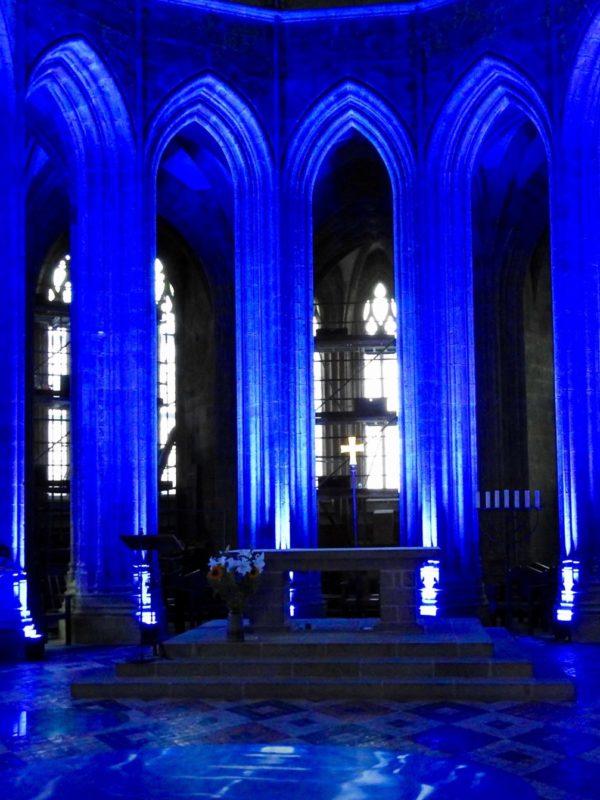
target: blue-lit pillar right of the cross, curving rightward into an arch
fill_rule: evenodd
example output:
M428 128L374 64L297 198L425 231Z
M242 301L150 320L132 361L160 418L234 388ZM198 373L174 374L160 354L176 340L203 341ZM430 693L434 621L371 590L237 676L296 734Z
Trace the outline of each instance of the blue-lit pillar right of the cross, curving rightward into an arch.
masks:
M475 509L477 441L471 180L493 108L485 111L500 69L484 60L456 88L433 131L423 176L420 221L427 314L423 426L427 429L424 524L442 551L447 614L477 613L482 605L479 530ZM480 121L481 120L481 121ZM485 124L483 122L485 120ZM429 344L428 344L429 343Z

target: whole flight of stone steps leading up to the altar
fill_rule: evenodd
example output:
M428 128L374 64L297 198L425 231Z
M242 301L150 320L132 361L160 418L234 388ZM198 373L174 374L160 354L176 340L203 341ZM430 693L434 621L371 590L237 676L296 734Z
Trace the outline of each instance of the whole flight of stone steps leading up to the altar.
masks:
M168 659L133 660L71 687L76 698L227 700L571 700L565 676L535 664L503 629L448 620L423 634L294 630L225 641L218 624L165 643Z

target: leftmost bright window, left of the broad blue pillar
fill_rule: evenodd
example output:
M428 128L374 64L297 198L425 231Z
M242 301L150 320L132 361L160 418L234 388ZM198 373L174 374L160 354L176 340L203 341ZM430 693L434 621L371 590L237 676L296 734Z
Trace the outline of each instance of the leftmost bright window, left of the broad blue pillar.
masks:
M69 495L70 458L70 256L63 256L42 276L36 310L34 383L35 462L45 472L46 492Z

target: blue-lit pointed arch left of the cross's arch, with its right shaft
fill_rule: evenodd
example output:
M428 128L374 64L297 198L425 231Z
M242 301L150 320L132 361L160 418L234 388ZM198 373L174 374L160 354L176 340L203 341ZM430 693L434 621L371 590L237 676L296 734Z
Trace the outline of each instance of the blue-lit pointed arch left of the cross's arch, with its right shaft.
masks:
M169 96L148 128L147 165L154 225L156 177L166 145L196 123L223 154L234 197L235 311L240 545L274 546L285 528L285 500L277 477L279 391L278 282L274 270L273 159L249 105L229 86L205 74Z

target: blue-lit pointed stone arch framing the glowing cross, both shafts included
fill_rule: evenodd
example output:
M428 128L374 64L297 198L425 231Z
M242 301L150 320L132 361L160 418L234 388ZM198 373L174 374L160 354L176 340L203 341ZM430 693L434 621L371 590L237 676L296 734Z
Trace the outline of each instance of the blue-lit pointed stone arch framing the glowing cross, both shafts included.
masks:
M395 112L373 91L355 81L334 86L307 112L293 134L284 164L282 229L286 251L286 292L292 315L288 330L290 399L292 544L316 543L314 492L314 415L312 414L313 190L323 160L345 134L362 135L382 159L393 202L394 270L398 302L398 358L403 365L398 425L403 439L400 491L401 531L407 543L418 540L418 358L415 319L414 149Z

